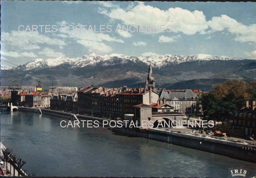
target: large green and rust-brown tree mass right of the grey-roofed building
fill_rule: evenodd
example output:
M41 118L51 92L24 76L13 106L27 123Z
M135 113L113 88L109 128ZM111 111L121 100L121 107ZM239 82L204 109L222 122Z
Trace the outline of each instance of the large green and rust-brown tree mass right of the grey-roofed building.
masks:
M245 107L247 100L256 99L256 82L230 80L215 85L211 91L202 94L201 103L204 115L227 119L234 111Z

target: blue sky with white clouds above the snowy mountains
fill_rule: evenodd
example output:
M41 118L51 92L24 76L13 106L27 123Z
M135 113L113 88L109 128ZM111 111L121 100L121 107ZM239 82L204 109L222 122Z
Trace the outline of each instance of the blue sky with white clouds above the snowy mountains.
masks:
M91 53L256 59L256 2L1 1L0 53L7 66Z

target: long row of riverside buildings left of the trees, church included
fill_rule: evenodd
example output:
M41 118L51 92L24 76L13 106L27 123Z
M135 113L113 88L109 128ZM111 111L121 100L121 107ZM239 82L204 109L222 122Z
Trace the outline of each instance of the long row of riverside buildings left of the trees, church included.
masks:
M145 87L119 88L90 85L78 91L76 87L49 87L42 91L11 91L14 105L50 108L114 120L132 119L161 122L183 120L184 113L202 113L198 94L190 89L170 91L157 89L150 64ZM36 89L37 90L37 89ZM67 94L63 94L67 91ZM157 123L156 122L156 123Z

